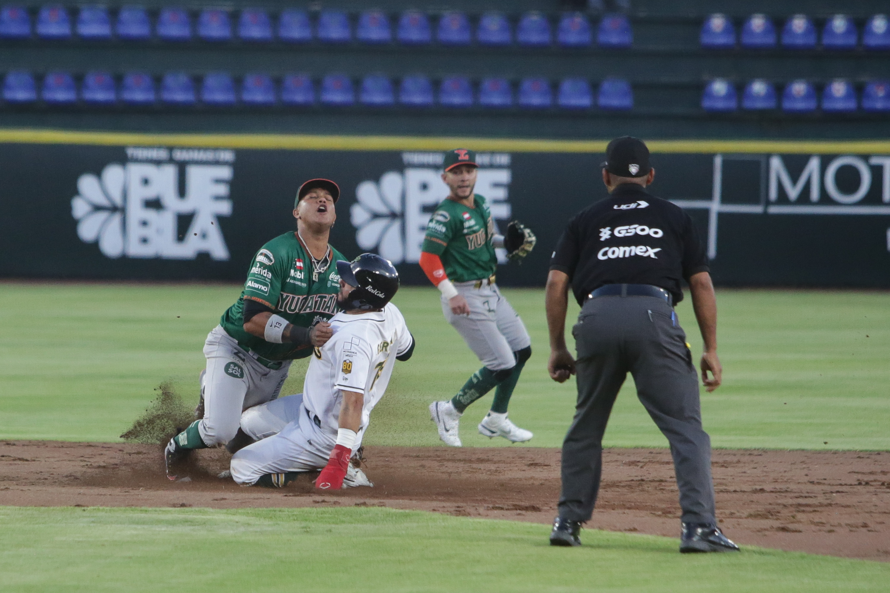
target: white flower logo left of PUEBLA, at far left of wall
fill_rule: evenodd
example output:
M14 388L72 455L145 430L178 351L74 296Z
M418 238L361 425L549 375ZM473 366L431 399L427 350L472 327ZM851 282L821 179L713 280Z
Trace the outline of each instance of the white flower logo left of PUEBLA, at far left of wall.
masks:
M77 179L77 196L71 198L71 216L77 220L77 236L84 243L99 241L109 258L124 254L124 167L109 164L101 180L93 173Z

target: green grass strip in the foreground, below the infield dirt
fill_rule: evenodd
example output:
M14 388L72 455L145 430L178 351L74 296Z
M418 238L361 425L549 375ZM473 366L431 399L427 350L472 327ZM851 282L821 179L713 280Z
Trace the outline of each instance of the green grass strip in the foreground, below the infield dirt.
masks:
M25 591L886 591L890 565L392 509L0 508L0 582Z

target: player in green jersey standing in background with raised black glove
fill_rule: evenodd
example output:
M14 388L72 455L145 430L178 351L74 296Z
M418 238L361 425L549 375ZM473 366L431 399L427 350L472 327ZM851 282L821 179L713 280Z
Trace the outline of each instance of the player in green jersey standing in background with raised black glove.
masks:
M529 333L495 284L496 247L511 259L527 255L535 244L528 228L513 221L506 236L495 233L485 198L473 193L476 155L457 148L445 155L442 180L449 196L426 226L420 266L441 291L442 312L482 363L449 401L430 404L430 416L446 445L461 446L458 423L466 407L495 389L490 412L479 423L485 437L513 443L530 440L530 430L507 418L507 405L522 367L531 356Z

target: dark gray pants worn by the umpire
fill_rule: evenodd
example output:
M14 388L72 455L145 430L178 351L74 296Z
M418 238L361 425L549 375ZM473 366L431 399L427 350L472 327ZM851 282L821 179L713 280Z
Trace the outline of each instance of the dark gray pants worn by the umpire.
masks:
M559 516L587 521L603 469L603 433L627 373L667 437L684 523L715 523L711 442L701 428L699 380L686 334L667 302L648 296L588 300L572 328L578 405L562 444Z

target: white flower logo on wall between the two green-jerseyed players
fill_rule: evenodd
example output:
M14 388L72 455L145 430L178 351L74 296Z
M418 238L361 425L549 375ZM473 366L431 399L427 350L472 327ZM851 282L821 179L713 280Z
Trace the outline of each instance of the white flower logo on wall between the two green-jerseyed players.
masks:
M356 243L376 251L394 264L405 260L402 232L402 196L405 180L400 172L385 172L380 180L362 181L355 190L357 202L349 209Z

